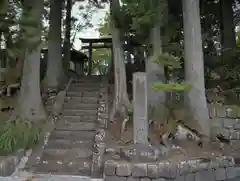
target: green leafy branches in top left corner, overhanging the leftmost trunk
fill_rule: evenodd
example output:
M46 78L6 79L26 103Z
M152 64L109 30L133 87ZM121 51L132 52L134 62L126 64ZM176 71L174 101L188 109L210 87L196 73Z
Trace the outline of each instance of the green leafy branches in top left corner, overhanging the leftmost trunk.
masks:
M0 2L0 29L3 33L7 56L15 59L41 43L41 20L34 20L36 9L26 8L22 1Z

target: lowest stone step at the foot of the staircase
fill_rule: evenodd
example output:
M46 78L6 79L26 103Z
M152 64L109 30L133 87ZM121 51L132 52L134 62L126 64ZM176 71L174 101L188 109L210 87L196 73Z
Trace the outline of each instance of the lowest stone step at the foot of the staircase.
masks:
M42 160L36 166L35 172L51 173L56 175L81 175L90 176L91 160L73 159L73 160ZM69 180L70 181L70 180Z

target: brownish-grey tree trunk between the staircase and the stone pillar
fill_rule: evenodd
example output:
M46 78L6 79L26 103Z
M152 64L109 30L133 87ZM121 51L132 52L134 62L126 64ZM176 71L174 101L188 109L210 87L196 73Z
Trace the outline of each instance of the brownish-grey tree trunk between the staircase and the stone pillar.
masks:
M118 0L110 1L111 17L113 22L114 13L117 8L120 8ZM124 115L124 106L129 105L126 83L126 67L124 64L123 48L120 40L120 31L116 28L116 24L112 23L112 42L113 42L113 65L114 65L114 86L115 96L113 101L113 109L110 119L114 119L116 112Z

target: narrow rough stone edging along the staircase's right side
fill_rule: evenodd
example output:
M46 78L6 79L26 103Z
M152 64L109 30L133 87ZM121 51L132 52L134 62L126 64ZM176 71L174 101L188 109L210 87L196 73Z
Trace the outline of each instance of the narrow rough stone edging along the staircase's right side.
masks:
M102 84L100 88L100 99L98 107L98 119L97 124L98 128L96 130L94 148L93 148L93 157L92 157L92 167L91 167L91 176L92 177L102 177L103 174L103 155L105 153L106 144L106 128L108 122L108 86Z

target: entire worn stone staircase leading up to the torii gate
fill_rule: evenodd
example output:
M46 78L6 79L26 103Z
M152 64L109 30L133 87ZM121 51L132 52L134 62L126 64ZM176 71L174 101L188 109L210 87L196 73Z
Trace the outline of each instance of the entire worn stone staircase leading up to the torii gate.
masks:
M100 86L99 77L72 82L62 115L35 166L36 173L91 175Z

